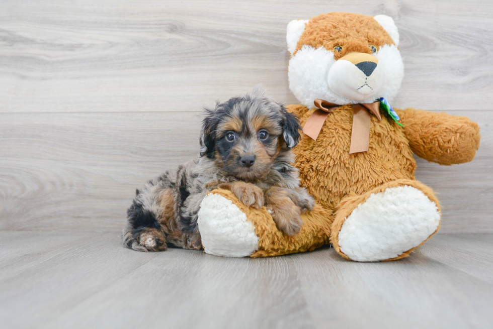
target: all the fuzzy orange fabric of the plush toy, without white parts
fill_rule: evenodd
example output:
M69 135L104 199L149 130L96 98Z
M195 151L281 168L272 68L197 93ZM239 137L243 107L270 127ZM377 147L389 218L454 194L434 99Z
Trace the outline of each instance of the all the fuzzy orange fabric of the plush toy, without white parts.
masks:
M385 44L394 45L394 42L373 17L329 13L310 19L293 56L304 45L315 49L324 47L328 51L341 46L340 51L334 51L337 60L351 52L371 54L371 45L378 49ZM302 127L315 111L304 105L289 105L287 108L300 118ZM432 189L415 180L413 153L445 165L470 161L479 146L479 128L465 117L413 108L395 111L405 127L398 126L382 111L381 121L372 116L367 152L349 154L352 105L335 108L325 119L316 141L302 136L293 149L295 166L299 168L301 185L320 206L302 216L305 226L297 236L288 237L279 232L265 207L260 210L248 208L231 192L214 191L232 200L254 223L260 240L259 250L252 257L312 250L328 243L332 233L331 242L335 249L347 259L338 243L345 219L372 193L387 187L416 187L440 206ZM407 257L415 248L394 259Z

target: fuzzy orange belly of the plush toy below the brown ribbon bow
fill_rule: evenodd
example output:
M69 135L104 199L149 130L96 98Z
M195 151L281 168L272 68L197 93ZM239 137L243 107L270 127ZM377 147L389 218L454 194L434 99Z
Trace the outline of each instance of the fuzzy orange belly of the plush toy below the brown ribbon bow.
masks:
M297 112L301 126L314 110ZM336 210L346 195L362 194L396 179L414 179L416 161L402 127L383 113L372 116L367 152L349 154L353 110L351 105L336 108L327 116L314 141L303 136L294 148L301 185L318 203Z

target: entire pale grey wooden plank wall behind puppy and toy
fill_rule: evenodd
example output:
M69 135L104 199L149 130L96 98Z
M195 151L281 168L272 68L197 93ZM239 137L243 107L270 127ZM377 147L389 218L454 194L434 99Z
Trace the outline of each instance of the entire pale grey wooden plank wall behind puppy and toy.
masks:
M198 150L201 107L287 82L286 24L392 16L406 76L396 107L466 115L476 159L418 160L441 233L493 232L493 3L63 1L0 3L0 230L120 230L134 190Z

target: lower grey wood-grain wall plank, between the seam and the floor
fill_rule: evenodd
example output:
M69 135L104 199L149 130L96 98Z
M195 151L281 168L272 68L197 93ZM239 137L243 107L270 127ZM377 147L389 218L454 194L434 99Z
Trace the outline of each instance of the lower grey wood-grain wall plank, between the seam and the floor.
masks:
M418 159L417 179L440 193L440 233L493 232L493 113L474 161ZM198 153L202 114L0 115L0 229L119 231L135 189Z

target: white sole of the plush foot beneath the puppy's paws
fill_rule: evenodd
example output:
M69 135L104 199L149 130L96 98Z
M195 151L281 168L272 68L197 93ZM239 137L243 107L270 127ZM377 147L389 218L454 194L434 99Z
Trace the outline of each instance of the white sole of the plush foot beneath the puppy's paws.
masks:
M231 200L208 194L200 204L198 225L207 254L245 257L258 249L259 238L247 215Z

